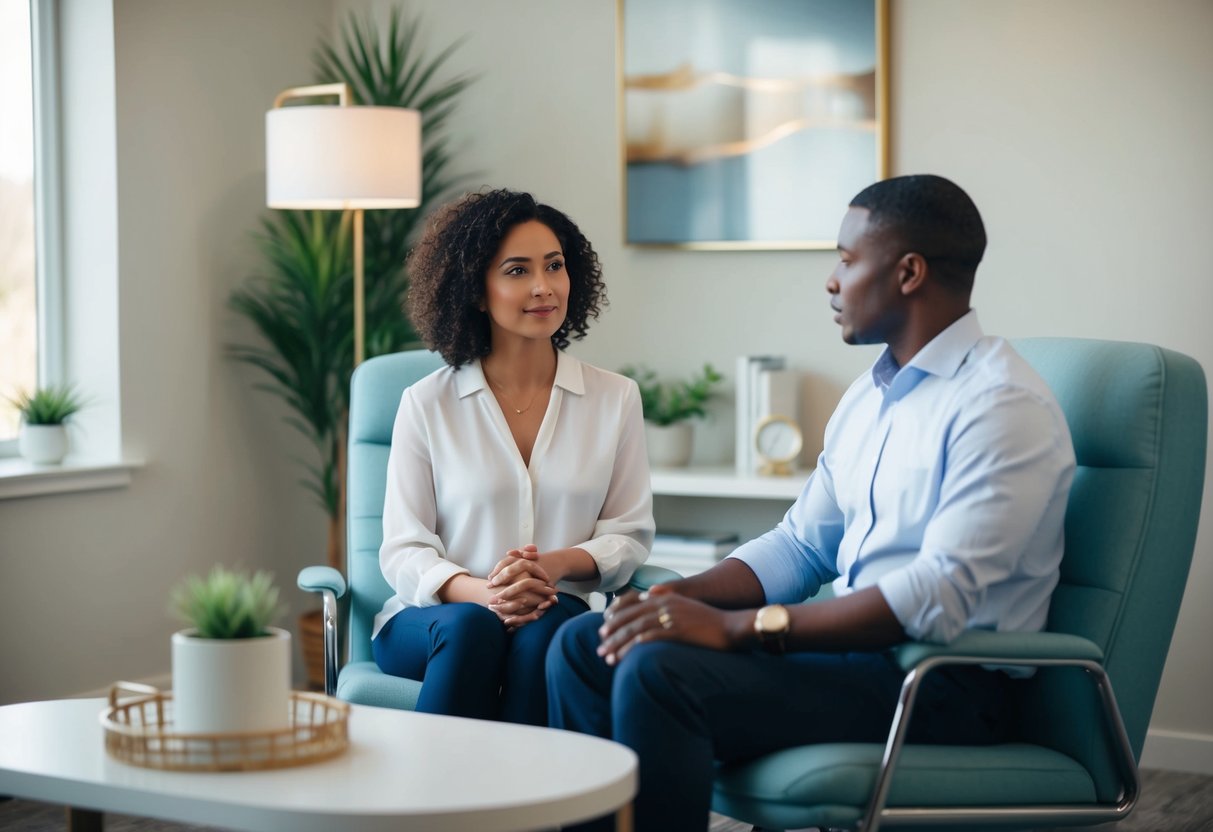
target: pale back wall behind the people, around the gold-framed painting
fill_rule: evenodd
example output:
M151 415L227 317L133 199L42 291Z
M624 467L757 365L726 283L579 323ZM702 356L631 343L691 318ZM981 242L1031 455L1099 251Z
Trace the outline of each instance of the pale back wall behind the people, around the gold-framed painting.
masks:
M824 290L832 253L620 243L615 4L420 5L434 46L467 34L454 64L484 73L454 119L461 167L566 210L605 263L611 307L575 352L668 375L782 353L818 382L820 427L875 357L838 340ZM1213 372L1213 5L892 5L893 173L950 176L981 207L991 244L974 306L986 330L1150 341ZM699 461L731 454L721 410L696 428ZM1209 505L1152 726L1194 735L1194 765L1213 771Z

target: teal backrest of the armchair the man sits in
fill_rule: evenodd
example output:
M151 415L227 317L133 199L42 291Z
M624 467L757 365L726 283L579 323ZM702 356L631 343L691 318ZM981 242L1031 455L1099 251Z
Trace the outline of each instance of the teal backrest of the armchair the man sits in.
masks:
M1141 343L1015 342L1065 411L1078 468L1048 629L1082 636L1104 666L1140 758L1196 541L1205 484L1208 393L1200 364ZM1077 702L1081 718L1059 703ZM1075 757L1101 799L1118 781L1089 680L1038 673L1021 731Z

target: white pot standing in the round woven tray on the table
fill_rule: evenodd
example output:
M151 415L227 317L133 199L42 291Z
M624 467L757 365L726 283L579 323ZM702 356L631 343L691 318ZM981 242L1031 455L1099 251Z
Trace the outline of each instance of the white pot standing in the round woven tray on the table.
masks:
M290 728L291 634L258 638L172 634L173 730L182 734Z

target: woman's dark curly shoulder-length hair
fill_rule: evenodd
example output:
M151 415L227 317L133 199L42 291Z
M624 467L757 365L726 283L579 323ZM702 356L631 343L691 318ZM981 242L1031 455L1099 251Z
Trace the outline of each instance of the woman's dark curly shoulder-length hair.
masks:
M569 308L552 346L564 349L570 338L586 337L590 319L606 306L598 255L568 216L528 193L467 194L434 213L408 260L409 318L452 367L489 354L489 314L480 308L489 264L509 230L531 220L556 234L569 274Z

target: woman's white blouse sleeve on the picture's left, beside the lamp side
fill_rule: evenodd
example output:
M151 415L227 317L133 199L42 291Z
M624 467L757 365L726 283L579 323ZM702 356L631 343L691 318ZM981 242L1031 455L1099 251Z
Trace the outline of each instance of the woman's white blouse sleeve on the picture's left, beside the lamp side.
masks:
M392 429L380 569L392 591L410 606L442 603L438 589L468 571L446 559L443 541L434 532L437 517L425 418L409 388L400 398Z

